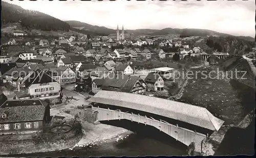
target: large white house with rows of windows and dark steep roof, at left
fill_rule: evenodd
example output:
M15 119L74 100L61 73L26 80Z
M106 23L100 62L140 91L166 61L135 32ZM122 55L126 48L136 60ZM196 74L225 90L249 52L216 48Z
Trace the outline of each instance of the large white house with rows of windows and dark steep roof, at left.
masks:
M56 98L60 93L60 84L53 80L51 76L46 74L44 71L36 70L33 71L35 75L30 80L24 82L26 92L31 95L32 98L40 97Z

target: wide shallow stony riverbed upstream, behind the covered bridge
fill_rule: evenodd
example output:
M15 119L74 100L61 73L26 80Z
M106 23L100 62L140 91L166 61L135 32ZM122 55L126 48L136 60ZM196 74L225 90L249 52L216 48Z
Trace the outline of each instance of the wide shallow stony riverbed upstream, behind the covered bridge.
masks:
M212 69L201 67L191 70L210 72ZM224 120L224 124L236 124L243 119L243 107L229 80L209 77L203 79L198 74L197 79L188 80L180 101L206 108L214 116Z

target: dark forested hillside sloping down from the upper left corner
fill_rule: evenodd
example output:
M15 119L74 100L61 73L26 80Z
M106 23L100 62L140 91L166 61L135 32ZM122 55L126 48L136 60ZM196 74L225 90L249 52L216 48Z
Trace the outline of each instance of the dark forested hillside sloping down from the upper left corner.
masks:
M25 10L17 5L1 2L2 14L1 24L20 22L24 29L37 29L44 31L69 31L70 25L50 15Z

